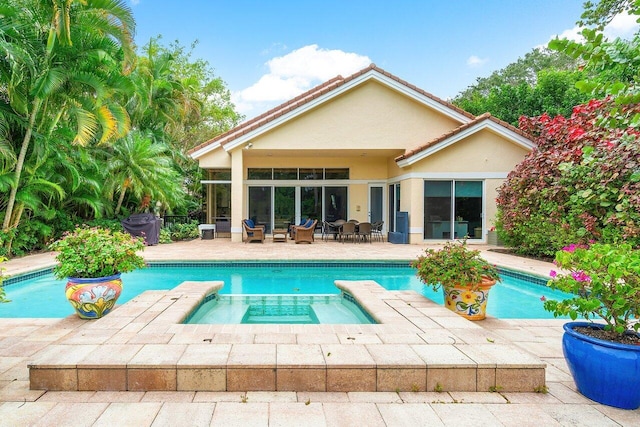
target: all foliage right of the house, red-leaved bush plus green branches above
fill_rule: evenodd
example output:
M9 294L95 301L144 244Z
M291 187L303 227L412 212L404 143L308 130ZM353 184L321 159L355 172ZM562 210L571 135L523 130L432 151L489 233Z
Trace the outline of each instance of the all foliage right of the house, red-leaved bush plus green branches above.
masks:
M550 47L579 60L587 77L576 87L592 99L566 118L520 120L537 148L509 175L498 195L497 228L518 252L554 256L571 243L640 247L640 35L607 40L602 27L640 3L588 3L584 42Z

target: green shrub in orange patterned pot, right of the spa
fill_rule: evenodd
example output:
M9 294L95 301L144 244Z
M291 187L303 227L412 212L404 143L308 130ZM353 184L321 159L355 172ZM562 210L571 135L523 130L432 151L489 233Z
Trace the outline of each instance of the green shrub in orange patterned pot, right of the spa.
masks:
M426 249L411 263L422 283L442 288L444 305L469 319L486 317L489 290L500 281L498 269L467 247L467 241L448 242L441 249Z

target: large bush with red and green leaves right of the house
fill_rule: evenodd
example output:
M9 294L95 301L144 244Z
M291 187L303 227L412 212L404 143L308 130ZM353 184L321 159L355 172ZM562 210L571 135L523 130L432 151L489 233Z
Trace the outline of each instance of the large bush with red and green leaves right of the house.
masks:
M640 247L640 132L611 127L612 117L633 121L640 105L591 100L570 118L520 119L537 148L499 189L496 225L507 245L551 257L576 242Z

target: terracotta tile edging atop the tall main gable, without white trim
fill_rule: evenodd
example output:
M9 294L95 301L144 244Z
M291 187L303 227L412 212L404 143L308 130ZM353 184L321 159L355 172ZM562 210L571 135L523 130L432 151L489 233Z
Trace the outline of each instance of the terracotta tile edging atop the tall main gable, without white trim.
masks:
M239 124L238 126L234 127L233 129L222 133L208 141L203 142L202 144L192 148L191 150L189 150L189 154L192 154L198 150L201 150L211 144L214 144L216 142L219 142L220 144L224 145L227 142L233 141L234 139L245 135L255 129L260 128L261 126L264 126L265 124L271 122L272 120L277 119L278 117L283 116L284 114L287 114L309 102L311 102L312 100L328 93L331 92L332 90L337 89L340 86L343 86L344 84L350 82L351 80L354 80L360 76L362 76L363 74L366 74L368 72L370 72L371 70L374 70L376 72L378 72L379 74L390 78L392 80L395 80L396 82L406 86L407 88L414 90L416 92L418 92L419 94L435 101L438 102L442 105L444 105L445 107L456 111L459 114L462 114L466 117L468 117L469 119L474 119L473 114L468 113L466 111L464 111L461 108L456 107L455 105L451 104L450 102L444 101L441 98L438 98L435 95L430 94L429 92L426 92L422 89L420 89L417 86L414 86L410 83L408 83L405 80L400 79L399 77L394 76L393 74L383 70L382 68L377 67L375 64L371 64L368 67L346 77L343 78L342 76L336 76L334 78L332 78L331 80L328 80L310 90L308 90L307 92L302 93L301 95L296 96L295 98L278 105L275 108L272 108L271 110L257 116L254 117L244 123Z

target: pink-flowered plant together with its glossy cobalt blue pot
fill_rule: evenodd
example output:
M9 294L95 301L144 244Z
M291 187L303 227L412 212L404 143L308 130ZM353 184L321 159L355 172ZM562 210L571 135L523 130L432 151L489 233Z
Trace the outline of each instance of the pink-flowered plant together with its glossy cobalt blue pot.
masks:
M548 286L571 296L543 297L544 308L573 320L564 325L562 349L578 391L605 405L640 407L640 251L628 244L570 245L556 253L555 264L562 271L551 271Z

